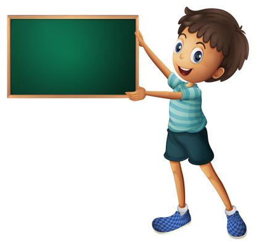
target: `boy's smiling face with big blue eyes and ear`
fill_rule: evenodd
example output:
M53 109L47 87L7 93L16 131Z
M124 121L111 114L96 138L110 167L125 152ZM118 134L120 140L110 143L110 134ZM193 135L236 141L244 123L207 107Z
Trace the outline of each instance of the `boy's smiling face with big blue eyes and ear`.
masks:
M222 52L210 47L210 42L204 43L203 38L197 38L197 33L189 33L188 27L178 37L173 50L173 66L185 81L202 82L210 77L220 77L224 73L219 68L223 60Z

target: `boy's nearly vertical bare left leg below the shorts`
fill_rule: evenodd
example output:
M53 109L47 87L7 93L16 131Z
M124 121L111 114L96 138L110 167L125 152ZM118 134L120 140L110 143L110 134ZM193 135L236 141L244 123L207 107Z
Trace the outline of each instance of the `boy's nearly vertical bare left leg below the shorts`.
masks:
M171 170L173 171L173 176L175 179L175 185L178 195L178 201L180 208L185 207L185 186L184 186L184 178L183 173L181 170L181 164L180 162L173 162L170 161L171 164Z

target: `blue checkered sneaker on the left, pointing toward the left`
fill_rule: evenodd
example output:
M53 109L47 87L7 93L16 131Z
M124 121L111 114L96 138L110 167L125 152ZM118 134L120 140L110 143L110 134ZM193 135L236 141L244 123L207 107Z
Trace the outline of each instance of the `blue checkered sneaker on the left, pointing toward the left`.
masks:
M152 226L156 232L168 233L185 226L190 221L191 216L189 214L189 210L187 210L184 215L181 215L180 212L176 211L175 214L169 217L156 218L153 220Z

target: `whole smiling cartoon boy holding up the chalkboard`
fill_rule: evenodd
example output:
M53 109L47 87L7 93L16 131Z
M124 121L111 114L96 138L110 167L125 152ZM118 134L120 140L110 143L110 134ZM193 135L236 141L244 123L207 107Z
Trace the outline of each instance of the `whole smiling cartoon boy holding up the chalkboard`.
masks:
M149 49L141 33L136 33L139 46L168 78L173 92L149 92L142 87L135 92L126 92L133 101L142 100L146 95L170 99L164 157L170 161L179 204L178 211L168 217L156 218L152 226L159 233L167 233L191 221L180 165L180 161L188 159L191 164L200 166L223 200L229 236L241 238L246 235L246 224L236 207L231 205L226 189L211 164L214 155L207 137L207 120L202 112L201 90L197 83L225 81L231 77L247 60L249 45L242 26L239 27L235 18L224 10L193 11L186 7L185 14L178 22L180 28L173 51L173 66L176 73L188 82L178 79Z

